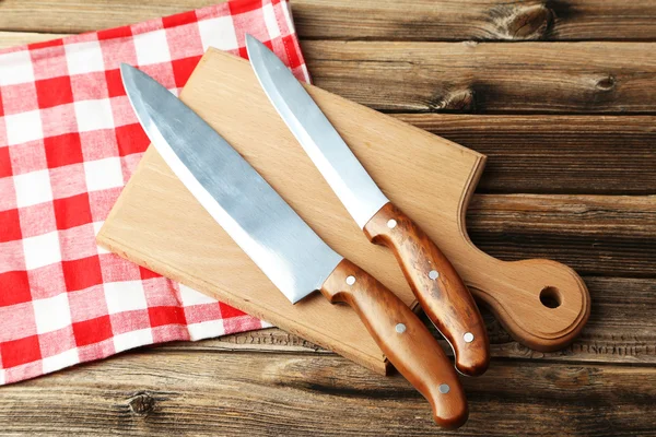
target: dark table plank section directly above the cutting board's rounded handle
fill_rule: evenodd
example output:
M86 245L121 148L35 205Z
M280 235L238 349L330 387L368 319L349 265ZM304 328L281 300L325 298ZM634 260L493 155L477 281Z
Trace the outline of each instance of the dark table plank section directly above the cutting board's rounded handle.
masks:
M547 258L584 275L656 276L654 196L478 194L467 231L504 260Z

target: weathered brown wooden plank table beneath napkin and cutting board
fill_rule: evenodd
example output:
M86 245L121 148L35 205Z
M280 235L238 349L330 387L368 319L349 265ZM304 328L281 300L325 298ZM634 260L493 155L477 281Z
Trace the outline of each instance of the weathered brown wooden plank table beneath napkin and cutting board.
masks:
M212 0L3 0L0 47ZM513 342L464 379L466 436L656 435L656 3L295 0L315 83L489 156L472 240L581 273L565 351ZM509 43L515 44L509 44ZM278 329L121 354L0 388L0 434L436 435L401 377ZM448 434L448 433L444 433Z

